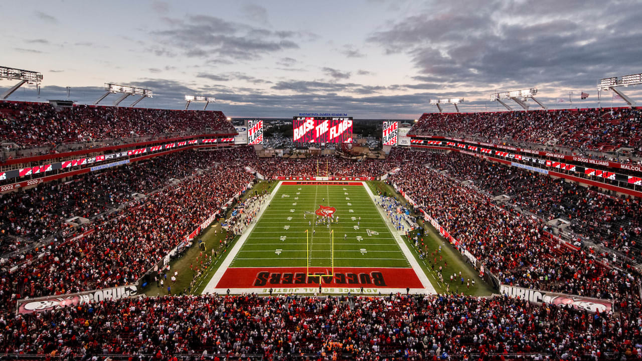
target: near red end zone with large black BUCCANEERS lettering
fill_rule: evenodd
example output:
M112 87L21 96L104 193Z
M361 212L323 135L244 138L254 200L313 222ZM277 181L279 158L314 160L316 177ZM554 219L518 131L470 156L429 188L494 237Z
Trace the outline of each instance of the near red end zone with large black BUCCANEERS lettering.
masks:
M330 274L332 269L311 267L310 274ZM231 268L218 281L216 288L263 288L300 286L369 286L378 288L424 288L413 269L334 267L333 276L308 276L305 267Z

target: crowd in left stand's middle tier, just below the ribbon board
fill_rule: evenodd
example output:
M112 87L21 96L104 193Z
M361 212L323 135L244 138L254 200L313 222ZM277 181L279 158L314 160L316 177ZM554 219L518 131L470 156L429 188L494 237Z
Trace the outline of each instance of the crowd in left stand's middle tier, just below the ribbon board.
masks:
M65 219L92 219L134 199L182 179L195 168L220 159L216 152L176 152L164 157L91 172L64 182L40 184L37 188L0 194L0 245L4 254L21 243L73 231Z

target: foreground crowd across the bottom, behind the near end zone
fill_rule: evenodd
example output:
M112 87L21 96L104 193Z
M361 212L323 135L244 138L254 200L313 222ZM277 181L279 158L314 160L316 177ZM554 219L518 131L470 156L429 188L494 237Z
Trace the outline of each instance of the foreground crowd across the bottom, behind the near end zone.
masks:
M501 296L165 296L0 319L0 352L84 360L638 360L640 322L633 307L615 317Z

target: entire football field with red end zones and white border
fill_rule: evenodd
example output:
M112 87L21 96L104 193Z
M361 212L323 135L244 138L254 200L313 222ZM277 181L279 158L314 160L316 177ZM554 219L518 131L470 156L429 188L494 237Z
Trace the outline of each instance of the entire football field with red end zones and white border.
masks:
M375 202L363 182L281 182L204 292L429 291Z

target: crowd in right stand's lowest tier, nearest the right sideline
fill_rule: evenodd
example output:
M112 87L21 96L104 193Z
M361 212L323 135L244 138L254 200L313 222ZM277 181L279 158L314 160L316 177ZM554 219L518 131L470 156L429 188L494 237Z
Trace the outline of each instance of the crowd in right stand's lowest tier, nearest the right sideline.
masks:
M438 172L458 167L459 161L465 164L467 156L419 153L413 154L415 159L422 159L419 163L406 164L390 181L502 283L607 299L627 295L639 298L631 294L630 286L639 281L634 270L607 267L602 263L607 260L605 255L590 254L585 249L574 252L560 249L557 242L544 236L546 225L538 218L504 209L494 204L489 195ZM437 169L426 168L422 163ZM473 168L482 166L485 164ZM462 169L466 166L463 167L457 172L465 172ZM480 172L489 174L485 170Z

